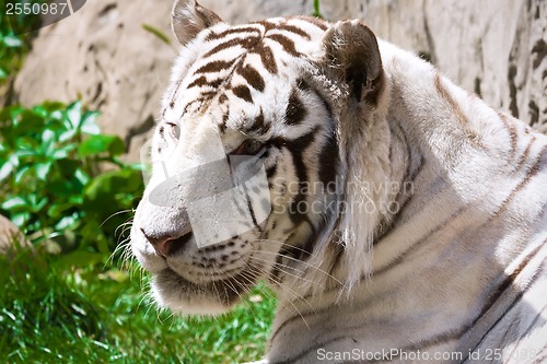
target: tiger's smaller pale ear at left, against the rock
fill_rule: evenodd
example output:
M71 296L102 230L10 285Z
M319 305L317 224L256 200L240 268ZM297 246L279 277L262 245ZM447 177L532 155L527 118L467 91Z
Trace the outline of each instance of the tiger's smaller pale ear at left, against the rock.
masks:
M171 16L173 33L183 46L202 30L222 22L219 15L195 0L176 0Z

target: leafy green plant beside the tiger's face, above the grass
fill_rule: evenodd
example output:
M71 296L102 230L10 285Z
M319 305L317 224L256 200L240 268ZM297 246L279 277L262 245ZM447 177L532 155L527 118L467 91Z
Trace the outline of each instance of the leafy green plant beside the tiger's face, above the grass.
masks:
M139 165L119 160L124 141L102 134L97 116L80 102L0 110L0 213L32 240L106 255L132 214L143 190Z

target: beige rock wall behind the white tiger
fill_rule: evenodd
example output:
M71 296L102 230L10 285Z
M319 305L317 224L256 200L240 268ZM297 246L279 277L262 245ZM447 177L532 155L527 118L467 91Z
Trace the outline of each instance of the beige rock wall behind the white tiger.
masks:
M232 23L313 9L313 0L200 2ZM88 1L40 31L14 97L25 106L81 97L102 111L103 131L125 138L128 158L136 161L176 55L171 5L172 0ZM322 0L321 7L331 21L364 20L380 37L429 59L493 107L547 131L547 1ZM150 26L168 35L171 45Z

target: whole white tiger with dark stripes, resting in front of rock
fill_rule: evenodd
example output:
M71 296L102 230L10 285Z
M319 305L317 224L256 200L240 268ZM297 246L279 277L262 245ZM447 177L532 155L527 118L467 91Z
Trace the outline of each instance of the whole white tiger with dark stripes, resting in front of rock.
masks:
M268 282L269 363L546 357L546 137L361 21L172 25L131 230L161 306Z

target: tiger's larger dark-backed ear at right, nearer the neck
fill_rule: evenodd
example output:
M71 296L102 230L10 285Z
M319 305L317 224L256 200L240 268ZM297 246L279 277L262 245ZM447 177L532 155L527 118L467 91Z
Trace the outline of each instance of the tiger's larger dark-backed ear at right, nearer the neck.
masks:
M372 31L359 21L333 25L323 38L325 66L349 85L357 103L376 106L383 91L382 58Z

